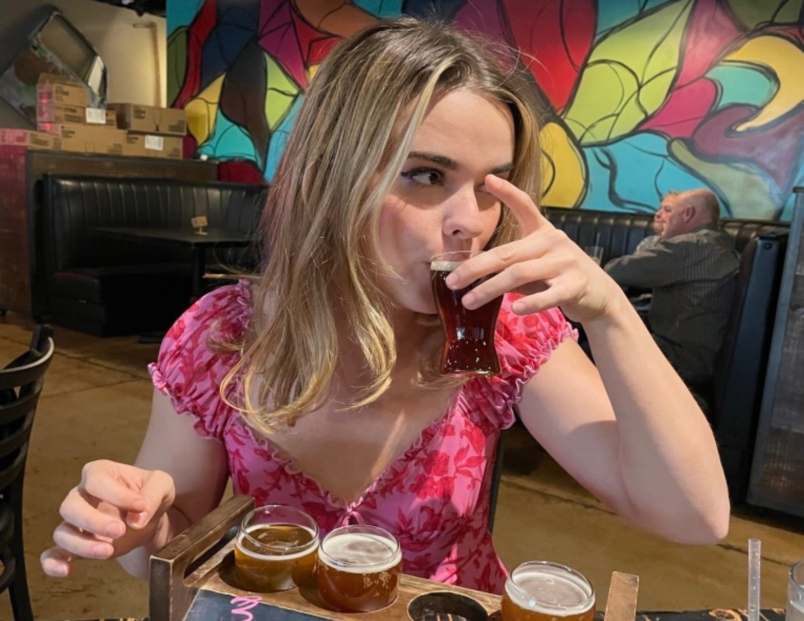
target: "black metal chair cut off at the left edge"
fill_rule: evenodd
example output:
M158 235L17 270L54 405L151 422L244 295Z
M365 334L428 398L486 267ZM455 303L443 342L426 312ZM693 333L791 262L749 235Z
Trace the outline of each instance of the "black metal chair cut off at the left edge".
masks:
M53 331L38 325L31 349L0 369L0 593L10 591L15 621L33 621L23 554L23 477L28 439L44 374L53 358Z

